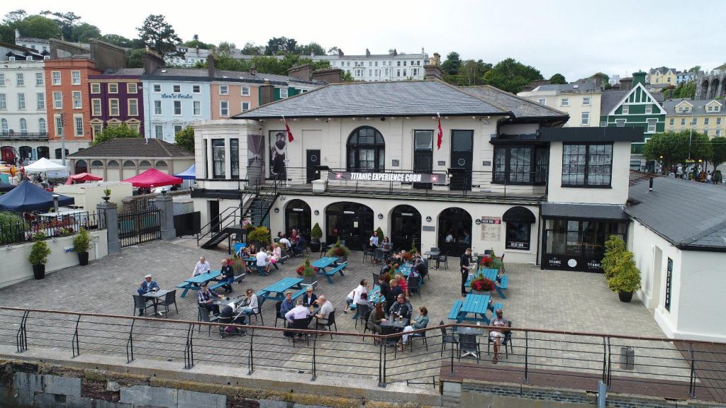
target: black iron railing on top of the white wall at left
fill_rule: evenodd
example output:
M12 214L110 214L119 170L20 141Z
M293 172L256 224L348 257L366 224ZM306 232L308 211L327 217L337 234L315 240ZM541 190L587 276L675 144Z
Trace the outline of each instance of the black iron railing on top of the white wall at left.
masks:
M35 234L46 237L65 237L75 234L81 228L93 230L99 228L99 214L88 211L59 213L51 216L31 216L20 219L0 218L0 245L17 244L33 240Z

